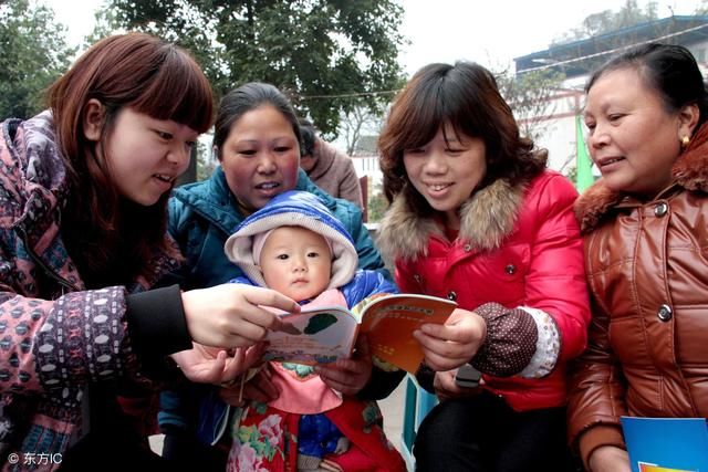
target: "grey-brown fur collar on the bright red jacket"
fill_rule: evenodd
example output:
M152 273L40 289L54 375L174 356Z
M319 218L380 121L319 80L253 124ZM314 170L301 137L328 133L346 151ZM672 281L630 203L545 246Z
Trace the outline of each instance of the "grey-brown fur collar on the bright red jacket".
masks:
M460 208L458 238L478 251L499 248L514 228L525 188L511 187L499 179L475 192ZM415 260L427 255L428 240L434 234L444 238L436 219L420 218L399 193L382 220L376 242L391 261Z

